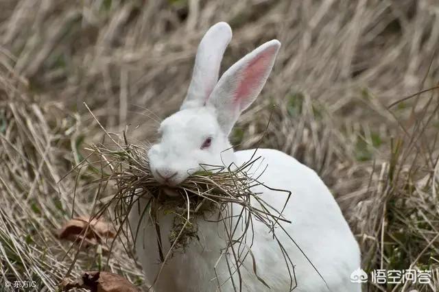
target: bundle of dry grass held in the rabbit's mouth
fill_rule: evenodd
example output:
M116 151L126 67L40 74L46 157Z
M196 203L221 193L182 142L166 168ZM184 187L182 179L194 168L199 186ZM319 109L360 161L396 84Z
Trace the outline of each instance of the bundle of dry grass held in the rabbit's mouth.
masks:
M270 188L250 174L255 167L258 167L260 157L254 157L239 167L236 165L229 167L200 165L202 171L193 173L182 184L170 188L159 184L154 179L148 166L147 147L128 143L125 134L123 138L117 139L124 143L123 145L115 140L115 135L108 135L112 143L110 145L101 143L89 147L88 150L91 151L89 159L78 165L80 168L93 167L99 173L99 178L95 180L95 183L99 184L99 190L103 193L108 193L105 191L106 186L114 185L113 195L102 199L104 204L97 210L95 216L99 217L108 210L115 210L113 218L119 226L118 234L121 234L130 230L128 216L134 204L139 199L146 198L145 209L139 210L142 214L140 220L150 220L150 223L158 230L158 242L161 242L162 239L158 235L161 234L159 231L161 221L157 214L161 212L174 215L173 226L168 234L171 248L167 254L164 254L161 245L158 245L158 256L163 263L175 252L185 252L185 248L194 239L198 239L198 220L205 220L209 214L215 212L221 214L217 223L224 224L228 230L227 234L230 234L230 238L224 243L225 248L234 248L233 246L241 241L248 244L249 248L252 246L252 243L246 243L247 238L251 237L247 233L252 230L252 220L264 223L273 234L279 221L291 223L283 217L283 210L274 209L265 203L258 193L250 189L258 185ZM99 159L93 160L92 157L95 156ZM285 207L291 192L270 189L285 195ZM242 212L232 216L231 204L241 206ZM230 221L232 217L234 220ZM246 226L239 238L233 237L237 225ZM131 230L131 234L124 234L128 236L128 242L135 242L137 232L139 230ZM239 263L237 263L238 266Z

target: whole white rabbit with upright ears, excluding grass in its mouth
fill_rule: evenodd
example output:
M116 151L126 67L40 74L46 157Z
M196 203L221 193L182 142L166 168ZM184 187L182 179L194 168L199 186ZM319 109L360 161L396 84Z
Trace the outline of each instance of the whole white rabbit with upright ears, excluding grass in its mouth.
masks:
M228 166L234 162L239 166L254 154L254 150L234 153L228 135L239 114L261 92L281 43L265 42L233 64L217 81L220 62L231 37L227 23L217 23L206 32L198 47L187 97L180 111L161 123L161 140L147 154L154 178L161 184L177 186L200 170L200 164ZM313 170L281 151L258 149L256 156L262 156L263 164L267 165L259 181L292 192L283 212L292 223L281 225L296 245L285 232L276 230L276 234L294 263L296 282L291 282L273 234L263 223L254 220L251 250L257 275L270 289L257 279L252 258L248 256L240 269L241 291L289 291L296 285L294 291L361 291L360 284L350 280L351 273L360 265L359 247L327 186ZM287 197L263 186L255 186L252 191L261 192L263 200L277 210L282 209ZM132 230L139 230L136 253L146 280L152 284L161 263L156 229L147 216L141 216L145 202L143 199L139 206L134 205L130 224ZM239 206L233 208L239 210ZM171 215L159 215L165 254L170 247L167 234L172 219ZM224 226L221 226L200 220L200 241L191 243L185 253L171 257L152 289L156 292L239 291L237 273L230 279L224 256L218 261L225 247Z

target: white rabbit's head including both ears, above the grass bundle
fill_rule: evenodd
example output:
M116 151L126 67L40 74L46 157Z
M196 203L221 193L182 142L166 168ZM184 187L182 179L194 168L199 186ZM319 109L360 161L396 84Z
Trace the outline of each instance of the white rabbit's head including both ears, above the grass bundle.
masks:
M148 152L154 178L176 186L200 165L233 162L228 134L239 114L261 92L272 70L278 40L265 42L233 64L219 79L222 56L232 38L227 23L213 25L202 38L195 57L191 84L180 111L165 119L160 141Z

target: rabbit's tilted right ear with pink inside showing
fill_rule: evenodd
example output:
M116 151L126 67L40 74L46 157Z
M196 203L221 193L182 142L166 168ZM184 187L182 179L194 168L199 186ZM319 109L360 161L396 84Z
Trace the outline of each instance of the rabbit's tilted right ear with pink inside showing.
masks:
M208 104L216 108L219 125L226 134L239 114L261 93L280 47L278 40L265 42L233 64L219 79Z

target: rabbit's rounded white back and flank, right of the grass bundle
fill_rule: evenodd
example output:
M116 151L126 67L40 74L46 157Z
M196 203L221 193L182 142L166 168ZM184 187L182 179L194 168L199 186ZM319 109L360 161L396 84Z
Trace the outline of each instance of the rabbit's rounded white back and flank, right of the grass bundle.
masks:
M250 160L254 150L235 154L240 165ZM298 287L294 291L328 291L316 269L331 291L361 291L359 284L350 280L351 273L360 265L359 247L327 186L315 171L281 151L258 149L254 158L259 156L263 162L254 173L261 174L259 182L292 192L283 212L285 219L292 223L281 225L296 244L281 228L276 228L276 236L295 266ZM283 208L287 197L285 193L268 191L263 186L255 186L252 191L263 193L263 200L276 210ZM262 223L254 224L254 234L252 252L259 275L273 291L287 291L289 272L278 244ZM259 281L252 283L251 291L261 291Z

